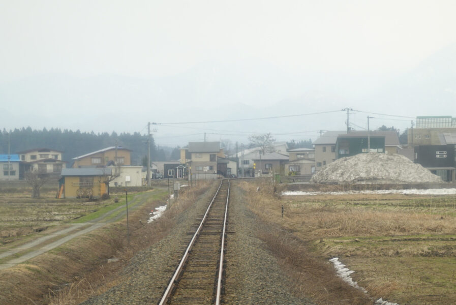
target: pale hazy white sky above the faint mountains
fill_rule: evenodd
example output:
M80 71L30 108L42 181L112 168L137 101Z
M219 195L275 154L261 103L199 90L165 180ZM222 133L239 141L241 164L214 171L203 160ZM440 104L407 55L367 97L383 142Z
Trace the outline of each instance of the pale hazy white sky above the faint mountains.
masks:
M0 84L47 74L163 77L207 60L251 59L375 81L454 43L455 12L456 1L435 0L0 0Z

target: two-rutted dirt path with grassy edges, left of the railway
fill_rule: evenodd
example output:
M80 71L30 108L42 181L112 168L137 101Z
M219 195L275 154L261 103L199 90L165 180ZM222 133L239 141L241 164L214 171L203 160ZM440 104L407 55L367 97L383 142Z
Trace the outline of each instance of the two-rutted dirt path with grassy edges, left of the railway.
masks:
M129 211L135 210L141 206L149 198L150 195L151 193L146 192L144 194L135 196L133 200L128 203ZM57 248L58 246L63 245L65 242L77 236L98 229L107 223L115 222L121 218L124 218L126 216L126 211L121 211L116 217L109 218L109 216L111 216L113 213L123 208L125 208L125 206L119 206L115 209L110 210L106 214L103 214L99 218L86 223L62 224L60 229L57 229L52 233L39 237L31 242L24 243L23 245L10 249L4 253L0 253L0 259L7 258L6 262L0 264L0 270L23 263L40 254L46 253L49 250ZM23 252L22 255L16 255L21 252Z

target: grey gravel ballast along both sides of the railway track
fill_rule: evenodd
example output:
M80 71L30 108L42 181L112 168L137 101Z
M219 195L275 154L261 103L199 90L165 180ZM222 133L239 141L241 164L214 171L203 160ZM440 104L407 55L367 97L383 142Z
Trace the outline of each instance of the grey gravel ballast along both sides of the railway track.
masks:
M246 207L235 184L230 193L224 303L313 304L290 292L290 280L265 250L263 241L255 237L258 230L267 228ZM177 225L167 237L137 253L121 273L121 284L82 304L156 304L178 264L173 254L183 252L191 238L187 233L202 216L214 191L212 187L177 216Z

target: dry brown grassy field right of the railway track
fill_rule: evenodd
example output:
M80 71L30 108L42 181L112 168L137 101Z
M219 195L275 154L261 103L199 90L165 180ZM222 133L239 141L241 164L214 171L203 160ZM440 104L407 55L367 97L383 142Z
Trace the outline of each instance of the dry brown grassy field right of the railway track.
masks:
M372 300L456 303L456 196L281 196L271 182L240 186L251 209L303 241L303 251L339 257Z

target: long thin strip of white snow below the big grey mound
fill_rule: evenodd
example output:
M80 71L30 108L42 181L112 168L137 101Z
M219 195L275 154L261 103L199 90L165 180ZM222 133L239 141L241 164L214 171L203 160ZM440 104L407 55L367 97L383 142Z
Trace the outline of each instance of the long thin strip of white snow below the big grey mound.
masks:
M364 191L345 191L345 192L301 192L301 191L282 192L282 195L284 195L284 196L351 195L351 194L456 195L456 189L364 190Z

